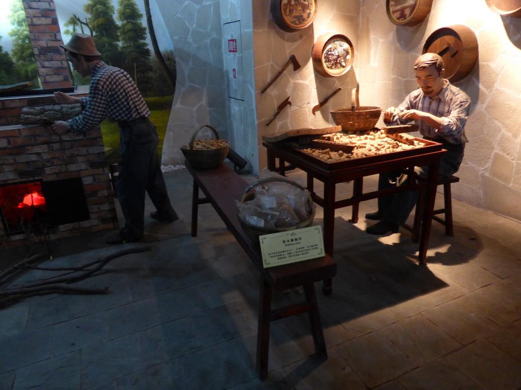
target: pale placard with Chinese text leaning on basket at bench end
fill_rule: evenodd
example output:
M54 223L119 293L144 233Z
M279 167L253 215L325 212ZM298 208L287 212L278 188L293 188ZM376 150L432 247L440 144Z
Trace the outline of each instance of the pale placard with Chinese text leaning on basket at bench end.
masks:
M264 268L325 256L321 226L259 237Z

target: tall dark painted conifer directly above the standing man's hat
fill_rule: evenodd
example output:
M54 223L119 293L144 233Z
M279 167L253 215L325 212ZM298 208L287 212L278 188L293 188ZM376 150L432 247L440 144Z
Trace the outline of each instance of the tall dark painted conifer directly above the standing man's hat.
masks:
M110 65L120 66L119 27L114 20L114 6L111 1L90 0L83 9L90 15L89 25L94 31L92 38L103 60Z

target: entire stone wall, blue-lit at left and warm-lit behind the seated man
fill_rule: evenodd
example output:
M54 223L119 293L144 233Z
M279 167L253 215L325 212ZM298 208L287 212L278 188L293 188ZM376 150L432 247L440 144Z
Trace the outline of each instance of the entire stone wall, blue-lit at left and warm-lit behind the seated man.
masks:
M455 83L470 96L472 106L466 126L469 143L454 197L521 220L521 18L502 18L485 0L435 0L422 23L399 27L388 20L383 0L318 0L313 25L288 33L271 19L270 0L157 2L178 64L163 163L182 162L179 147L199 126L212 124L223 138L229 137L255 173L266 165L262 135L333 125L329 111L351 106L357 82L361 105L398 105L417 87L412 63L427 37L441 27L467 25L478 38L479 62ZM242 29L244 102L228 99L224 69L222 23L235 17ZM313 68L313 43L326 32L342 33L354 45L353 69L343 76L322 77ZM302 67L288 68L261 94L292 54ZM313 106L338 87L341 93L313 115ZM266 126L288 96L292 105Z

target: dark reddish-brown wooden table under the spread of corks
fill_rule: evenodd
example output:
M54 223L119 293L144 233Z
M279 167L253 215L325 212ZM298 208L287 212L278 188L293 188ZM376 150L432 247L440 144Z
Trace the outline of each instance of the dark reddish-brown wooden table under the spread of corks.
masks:
M422 147L330 164L294 149L284 141L264 141L263 145L267 150L268 169L270 171L277 171L284 175L287 170L285 165L287 162L291 168L300 168L306 172L307 188L312 192L313 201L324 208L324 248L330 256L333 255L334 212L336 209L353 206L352 222L357 222L358 204L362 201L395 192L425 189L425 209L422 217L418 255L419 262L425 264L427 262L427 245L436 197L440 158L446 151L437 142L419 138L417 140L421 141ZM276 159L279 160L278 165ZM426 180L418 182L415 180L417 178L414 173L415 166L429 167ZM408 184L382 191L363 192L363 178L365 176L393 171L407 173L409 175ZM313 193L314 179L324 183L323 198ZM348 199L336 200L336 185L351 180L354 185L353 196ZM331 287L331 280L324 281L324 283L327 293Z

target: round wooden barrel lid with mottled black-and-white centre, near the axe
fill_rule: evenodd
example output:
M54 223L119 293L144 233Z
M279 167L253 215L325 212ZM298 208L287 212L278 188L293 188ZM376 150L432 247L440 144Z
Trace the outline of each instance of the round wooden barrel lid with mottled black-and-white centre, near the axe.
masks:
M324 77L347 73L353 64L353 57L353 44L348 37L337 33L320 35L311 54L313 67Z

